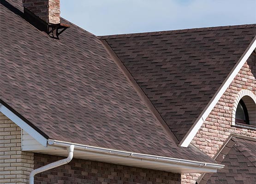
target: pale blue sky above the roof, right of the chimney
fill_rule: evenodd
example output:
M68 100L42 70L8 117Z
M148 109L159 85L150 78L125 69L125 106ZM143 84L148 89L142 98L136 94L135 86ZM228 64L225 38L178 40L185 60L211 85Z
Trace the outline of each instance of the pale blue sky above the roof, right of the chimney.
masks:
M95 35L256 23L256 0L60 0L61 17Z

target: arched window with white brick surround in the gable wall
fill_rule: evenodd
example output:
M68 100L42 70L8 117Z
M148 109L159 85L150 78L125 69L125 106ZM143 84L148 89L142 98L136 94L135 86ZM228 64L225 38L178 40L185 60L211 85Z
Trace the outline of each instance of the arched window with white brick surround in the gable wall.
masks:
M232 113L232 125L256 130L256 96L249 90L238 93Z

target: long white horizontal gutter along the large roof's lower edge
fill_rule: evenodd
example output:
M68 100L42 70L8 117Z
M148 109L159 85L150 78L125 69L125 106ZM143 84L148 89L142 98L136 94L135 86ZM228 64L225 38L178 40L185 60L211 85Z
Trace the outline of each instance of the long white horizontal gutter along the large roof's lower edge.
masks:
M57 146L57 147L68 147L73 143L57 141L57 140L48 140L48 144L50 146ZM214 172L216 169L222 169L224 165L214 164L214 163L206 163L206 162L199 162L199 161L189 161L184 159L177 159L177 158L170 158L164 156L157 156L157 155L147 155L147 154L140 154L128 151L120 151L120 150L112 150L82 144L73 144L75 146L75 150L85 151L85 152L94 152L102 154L102 155L113 155L117 158L126 157L126 158L134 158L139 159L141 162L143 161L154 161L163 164L173 164L179 165L184 167L193 167L199 168L203 167L205 170L211 170L210 172ZM209 171L208 171L209 172ZM216 172L216 171L215 171Z

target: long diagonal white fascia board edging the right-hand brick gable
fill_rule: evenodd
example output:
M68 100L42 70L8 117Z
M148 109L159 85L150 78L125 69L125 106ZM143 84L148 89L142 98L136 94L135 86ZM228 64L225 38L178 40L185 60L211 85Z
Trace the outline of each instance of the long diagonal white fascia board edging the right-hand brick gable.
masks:
M235 67L232 69L230 74L227 76L226 80L222 83L219 90L215 93L214 97L211 99L209 104L206 106L206 108L203 110L201 115L197 118L193 126L190 128L190 130L187 132L185 137L180 142L179 146L182 147L188 147L188 145L191 143L192 139L196 136L196 133L202 126L202 123L205 121L205 119L208 117L214 106L218 103L224 92L226 92L226 89L231 84L231 82L234 80L240 69L244 66L244 63L247 61L247 59L250 57L251 53L256 50L256 37L252 40L244 54L240 57L238 60L238 63L235 65Z

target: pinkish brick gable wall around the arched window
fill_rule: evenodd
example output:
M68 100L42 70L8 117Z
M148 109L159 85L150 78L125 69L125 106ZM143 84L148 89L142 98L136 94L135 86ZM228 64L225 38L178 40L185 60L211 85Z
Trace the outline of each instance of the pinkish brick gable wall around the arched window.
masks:
M239 71L191 142L211 157L217 153L230 133L256 137L255 130L231 126L233 104L237 94L242 89L250 90L256 94L255 52ZM195 184L198 176L200 174L182 175L182 184Z

